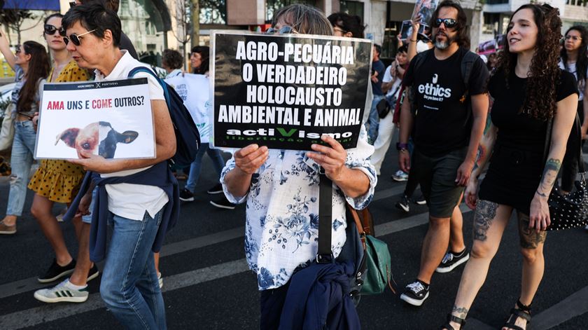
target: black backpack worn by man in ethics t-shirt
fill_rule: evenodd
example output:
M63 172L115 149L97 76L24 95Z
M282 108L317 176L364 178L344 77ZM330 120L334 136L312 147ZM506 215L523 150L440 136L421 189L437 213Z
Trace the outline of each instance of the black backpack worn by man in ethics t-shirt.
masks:
M426 54L428 54L429 52L432 52L435 48L431 48L430 50L426 50L422 53L416 54L416 56L414 57L413 61L414 61L414 68L412 70L412 74L416 75L417 72L419 72L419 69L421 68L421 65L423 64ZM461 99L460 102L467 102L467 106L468 106L468 114L465 117L465 123L463 123L464 127L470 127L472 126L473 123L473 119L472 119L472 102L470 100L470 76L472 74L472 67L474 66L474 63L476 62L476 60L478 59L478 55L476 53L472 53L471 51L468 50L468 53L465 53L465 55L463 55L463 58L461 59L461 79L463 81L463 84L465 85L465 91L463 92L463 95L461 95ZM414 88L410 89L411 92L411 99L412 99L412 104L411 104L411 111L413 115L416 115L416 91Z

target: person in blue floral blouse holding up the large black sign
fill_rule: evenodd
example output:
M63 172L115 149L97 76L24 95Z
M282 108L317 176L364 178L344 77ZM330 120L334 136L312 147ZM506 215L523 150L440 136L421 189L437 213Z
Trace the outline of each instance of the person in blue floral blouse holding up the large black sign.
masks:
M300 4L278 11L273 28L283 33L332 35L323 13ZM314 152L250 144L237 150L223 169L225 195L235 203L247 201L245 252L262 291L261 329L278 328L290 277L316 258L319 168L324 168L334 187L331 248L335 258L346 241L346 202L362 209L372 199L377 176L368 158L374 149L360 126L357 146L352 149L343 149L329 135L321 137L324 145L312 144Z

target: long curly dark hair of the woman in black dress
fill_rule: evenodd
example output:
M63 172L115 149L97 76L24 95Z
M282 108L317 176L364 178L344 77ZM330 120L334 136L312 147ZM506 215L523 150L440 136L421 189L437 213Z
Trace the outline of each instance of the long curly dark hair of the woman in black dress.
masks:
M553 118L556 106L556 88L561 71L559 69L559 39L561 38L561 20L559 11L549 5L526 4L514 11L512 17L523 9L531 9L537 25L537 43L535 55L531 60L529 78L526 82L524 103L520 113L529 114L533 118L547 121ZM508 27L507 34L512 27ZM517 54L510 53L508 43L500 53L496 71L502 70L505 75L505 83L508 88L508 80L514 67L517 65Z

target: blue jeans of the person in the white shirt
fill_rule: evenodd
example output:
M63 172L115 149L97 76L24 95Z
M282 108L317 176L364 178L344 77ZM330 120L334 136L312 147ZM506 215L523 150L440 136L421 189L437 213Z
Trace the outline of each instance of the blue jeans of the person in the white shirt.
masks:
M165 305L151 247L161 224L163 209L152 218L131 220L111 213L113 234L100 295L116 319L127 329L166 329Z

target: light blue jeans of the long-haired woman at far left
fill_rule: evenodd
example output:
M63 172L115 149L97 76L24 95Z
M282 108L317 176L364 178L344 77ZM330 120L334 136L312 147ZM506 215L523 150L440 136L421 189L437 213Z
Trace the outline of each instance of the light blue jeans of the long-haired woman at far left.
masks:
M27 198L27 184L33 153L35 152L36 133L31 121L16 121L14 123L14 142L12 156L10 156L10 193L8 193L7 215L22 215L22 207Z

